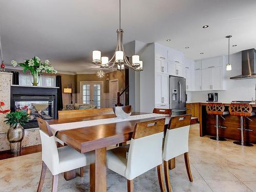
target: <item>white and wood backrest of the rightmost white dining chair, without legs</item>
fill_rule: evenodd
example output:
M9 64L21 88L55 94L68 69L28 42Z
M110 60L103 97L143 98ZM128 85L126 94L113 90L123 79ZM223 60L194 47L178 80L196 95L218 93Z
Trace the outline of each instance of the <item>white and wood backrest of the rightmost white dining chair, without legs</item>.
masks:
M168 161L188 152L188 134L191 114L175 116L170 119L165 134L162 159Z

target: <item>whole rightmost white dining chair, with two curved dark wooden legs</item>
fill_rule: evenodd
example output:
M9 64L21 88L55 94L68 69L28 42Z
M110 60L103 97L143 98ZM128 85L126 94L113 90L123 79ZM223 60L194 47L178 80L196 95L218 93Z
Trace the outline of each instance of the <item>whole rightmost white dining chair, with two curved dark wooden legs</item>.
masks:
M168 192L172 191L168 161L179 155L184 154L188 179L190 182L193 182L188 159L188 134L190 120L191 114L172 117L166 130L162 157L164 163L165 184Z

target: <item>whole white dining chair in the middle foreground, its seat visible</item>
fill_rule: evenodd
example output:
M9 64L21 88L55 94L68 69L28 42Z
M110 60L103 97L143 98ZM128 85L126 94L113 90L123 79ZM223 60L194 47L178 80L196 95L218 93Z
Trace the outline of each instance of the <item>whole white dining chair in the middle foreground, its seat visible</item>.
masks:
M157 167L161 191L164 191L162 173L162 142L165 119L137 123L130 145L107 151L107 167L127 179L127 191L133 191L133 179Z

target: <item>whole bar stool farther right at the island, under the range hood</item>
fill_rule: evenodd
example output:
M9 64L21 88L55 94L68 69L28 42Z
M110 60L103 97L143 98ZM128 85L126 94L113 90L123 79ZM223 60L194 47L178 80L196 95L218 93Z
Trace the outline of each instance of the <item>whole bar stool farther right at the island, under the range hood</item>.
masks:
M249 103L230 103L229 105L229 113L230 115L235 115L240 117L241 128L241 141L234 141L234 144L242 145L242 146L253 146L253 144L244 142L244 130L245 131L253 131L250 129L244 128L244 117L252 121L249 117L255 115L255 112L252 112L252 107Z

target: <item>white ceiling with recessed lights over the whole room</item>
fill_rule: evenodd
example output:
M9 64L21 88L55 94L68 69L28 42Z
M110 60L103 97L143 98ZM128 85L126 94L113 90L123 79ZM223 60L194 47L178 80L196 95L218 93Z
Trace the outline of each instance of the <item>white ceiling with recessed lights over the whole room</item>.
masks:
M124 43L159 42L191 59L227 54L229 34L238 45L231 53L256 47L255 0L122 0L121 6ZM3 59L10 65L36 55L59 71L95 71L92 50L116 46L118 7L118 0L1 0Z

